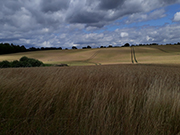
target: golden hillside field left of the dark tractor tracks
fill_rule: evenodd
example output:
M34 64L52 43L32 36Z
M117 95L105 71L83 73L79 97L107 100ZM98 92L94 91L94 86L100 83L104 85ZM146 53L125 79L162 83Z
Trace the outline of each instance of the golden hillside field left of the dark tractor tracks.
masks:
M130 48L103 48L79 50L51 50L1 55L2 60L17 60L22 56L36 58L46 64L101 65L129 62Z

